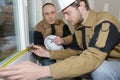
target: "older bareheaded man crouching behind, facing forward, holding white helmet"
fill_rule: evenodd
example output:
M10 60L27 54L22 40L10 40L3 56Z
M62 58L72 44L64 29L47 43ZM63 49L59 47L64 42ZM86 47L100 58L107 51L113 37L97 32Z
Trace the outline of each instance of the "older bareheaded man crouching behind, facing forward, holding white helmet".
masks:
M55 5L52 3L45 3L42 6L42 14L43 20L41 20L35 27L34 44L46 49L44 44L45 38L49 35L56 35L52 42L56 45L62 45L64 49L66 49L71 43L72 35L69 27L63 22L63 20L57 18ZM56 60L50 60L45 57L37 57L37 59L40 61L42 66L56 62Z

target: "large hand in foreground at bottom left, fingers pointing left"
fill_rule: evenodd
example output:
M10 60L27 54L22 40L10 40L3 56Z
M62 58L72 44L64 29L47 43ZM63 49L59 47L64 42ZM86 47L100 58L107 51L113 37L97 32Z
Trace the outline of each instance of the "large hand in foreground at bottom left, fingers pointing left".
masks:
M18 65L0 68L0 78L5 80L37 80L50 77L49 66L38 66L32 62L22 62Z

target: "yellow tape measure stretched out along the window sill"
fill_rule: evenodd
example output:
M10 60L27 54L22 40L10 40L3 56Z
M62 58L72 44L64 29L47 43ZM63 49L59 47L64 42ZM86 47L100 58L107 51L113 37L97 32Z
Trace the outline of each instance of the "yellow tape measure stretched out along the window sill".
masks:
M22 56L24 53L26 53L27 51L29 51L32 48L33 44L29 45L27 48L25 48L24 50L22 50L21 52L15 54L12 58L10 58L9 60L7 60L5 63L2 64L2 67L7 67L10 63L14 62L16 59L18 59L20 56Z

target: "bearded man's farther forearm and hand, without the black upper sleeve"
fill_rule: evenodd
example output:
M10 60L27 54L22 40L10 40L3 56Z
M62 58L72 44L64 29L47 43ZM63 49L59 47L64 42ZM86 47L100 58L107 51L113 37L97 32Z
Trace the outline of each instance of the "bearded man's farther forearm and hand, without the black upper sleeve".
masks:
M48 57L51 59L56 60L63 60L65 58L68 58L70 56L80 55L80 50L73 50L73 49L65 49L65 50L54 50L54 51L47 51L39 46L33 46L34 48L31 50L31 52L35 53L37 56L40 57Z

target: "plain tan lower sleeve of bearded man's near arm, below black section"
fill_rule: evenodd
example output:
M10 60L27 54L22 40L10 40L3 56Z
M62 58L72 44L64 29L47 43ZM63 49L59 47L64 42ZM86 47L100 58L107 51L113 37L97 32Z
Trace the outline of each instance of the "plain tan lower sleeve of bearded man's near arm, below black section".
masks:
M97 53L91 53L93 50ZM105 58L105 53L89 48L79 56L71 56L50 65L50 71L54 79L81 76L95 70Z

